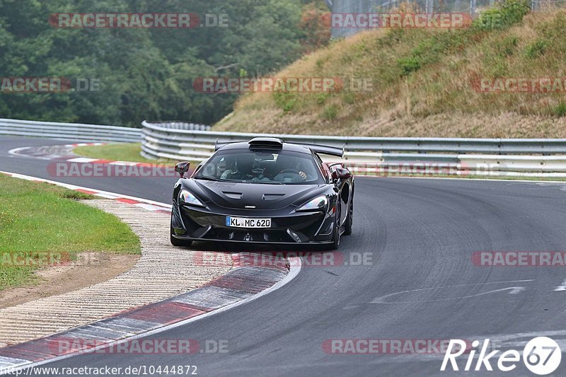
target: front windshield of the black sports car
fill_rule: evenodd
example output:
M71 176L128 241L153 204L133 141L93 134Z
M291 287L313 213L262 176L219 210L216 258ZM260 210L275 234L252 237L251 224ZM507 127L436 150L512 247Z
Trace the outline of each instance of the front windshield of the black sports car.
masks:
M204 163L197 179L265 184L322 183L313 157L293 151L219 151Z

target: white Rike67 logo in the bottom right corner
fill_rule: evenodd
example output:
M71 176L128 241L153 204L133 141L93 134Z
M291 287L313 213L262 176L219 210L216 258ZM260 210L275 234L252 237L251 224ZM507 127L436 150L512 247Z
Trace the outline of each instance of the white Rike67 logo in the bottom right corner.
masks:
M515 349L508 349L505 352L495 349L495 351L487 353L488 349L490 349L489 339L484 340L481 349L478 348L479 345L479 340L474 340L472 342L472 349L467 354L467 358L462 358L466 359L466 366L463 367L463 371L493 371L492 363L497 363L497 369L499 369L499 371L508 372L514 370L521 361L521 353ZM466 342L459 339L450 340L440 370L461 370L459 368L461 368L462 365L458 366L456 359L466 351ZM479 354L475 360L476 351L479 351ZM561 360L562 351L560 350L560 346L549 337L536 337L530 340L522 352L522 361L526 368L539 376L553 373L553 371L560 366Z

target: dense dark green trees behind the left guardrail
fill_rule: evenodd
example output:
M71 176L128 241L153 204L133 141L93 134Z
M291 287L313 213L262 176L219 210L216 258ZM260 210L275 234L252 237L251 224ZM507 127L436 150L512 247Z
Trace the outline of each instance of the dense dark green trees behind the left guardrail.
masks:
M311 5L311 2L314 5ZM212 124L234 94L200 93L198 77L268 74L320 45L304 21L321 0L2 0L3 77L100 79L100 91L1 93L0 117L139 127L141 120ZM317 5L318 4L318 5ZM54 28L54 13L226 14L228 27Z

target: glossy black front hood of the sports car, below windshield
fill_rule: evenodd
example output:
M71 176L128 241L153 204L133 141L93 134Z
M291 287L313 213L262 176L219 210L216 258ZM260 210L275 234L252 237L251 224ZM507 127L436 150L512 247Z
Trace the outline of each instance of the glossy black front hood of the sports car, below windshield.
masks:
M270 185L241 182L191 180L205 202L230 209L282 209L298 206L314 195L320 195L323 185Z

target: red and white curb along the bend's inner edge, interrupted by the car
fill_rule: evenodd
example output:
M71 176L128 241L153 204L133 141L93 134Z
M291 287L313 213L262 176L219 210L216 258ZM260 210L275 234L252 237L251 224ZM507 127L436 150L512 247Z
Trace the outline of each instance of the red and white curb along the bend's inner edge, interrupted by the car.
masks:
M18 173L0 173L119 200L149 211L171 211L171 205L148 199ZM0 375L66 359L76 354L96 352L228 311L281 288L301 270L299 257L289 257L287 261L275 261L272 265L261 266L254 265L251 262L253 258L246 257L246 253L233 254L232 259L235 267L229 272L185 294L37 340L0 348ZM69 342L70 340L72 342Z

